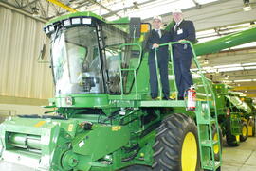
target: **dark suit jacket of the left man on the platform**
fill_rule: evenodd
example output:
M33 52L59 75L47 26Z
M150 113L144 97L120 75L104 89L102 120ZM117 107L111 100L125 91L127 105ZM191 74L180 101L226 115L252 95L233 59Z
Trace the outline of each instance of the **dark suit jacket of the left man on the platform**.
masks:
M148 35L146 36L146 43L145 48L149 52L149 63L155 62L155 49L152 49L154 43L169 43L171 42L171 34L170 31L162 30L161 29L161 38L159 37L158 33L155 29L151 30ZM158 62L168 62L169 53L168 53L168 46L162 46L157 49L157 60Z

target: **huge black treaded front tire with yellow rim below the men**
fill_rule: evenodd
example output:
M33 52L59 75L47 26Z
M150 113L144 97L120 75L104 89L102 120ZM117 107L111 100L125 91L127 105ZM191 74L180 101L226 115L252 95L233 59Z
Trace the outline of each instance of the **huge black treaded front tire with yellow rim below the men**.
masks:
M156 132L153 170L182 171L183 167L200 170L197 128L192 118L172 114L162 121Z

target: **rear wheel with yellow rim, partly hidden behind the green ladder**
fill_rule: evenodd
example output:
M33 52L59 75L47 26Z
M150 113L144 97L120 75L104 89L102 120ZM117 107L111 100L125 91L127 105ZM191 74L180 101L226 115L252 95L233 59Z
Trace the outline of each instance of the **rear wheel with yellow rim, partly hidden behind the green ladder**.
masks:
M213 147L213 151L214 151L214 158L215 161L219 161L220 160L220 153L222 152L222 146L223 146L223 141L222 141L222 131L221 128L218 126L219 128L219 133L220 133L220 145L214 145ZM217 132L217 128L215 125L212 126L212 139L218 141L218 132Z

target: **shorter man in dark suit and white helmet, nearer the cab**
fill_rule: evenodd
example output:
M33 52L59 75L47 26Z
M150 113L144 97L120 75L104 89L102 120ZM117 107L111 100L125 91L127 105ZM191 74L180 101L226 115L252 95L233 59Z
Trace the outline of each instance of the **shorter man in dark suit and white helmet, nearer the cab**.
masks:
M151 97L156 99L158 96L158 81L156 77L155 68L155 48L159 47L161 43L168 43L171 41L170 32L160 29L162 25L162 19L160 16L155 16L153 19L153 30L148 34L148 39L146 41L146 49L149 51L149 71L150 71L150 87L151 87ZM168 80L168 46L159 47L156 51L157 53L157 65L159 68L163 99L169 100L170 88Z

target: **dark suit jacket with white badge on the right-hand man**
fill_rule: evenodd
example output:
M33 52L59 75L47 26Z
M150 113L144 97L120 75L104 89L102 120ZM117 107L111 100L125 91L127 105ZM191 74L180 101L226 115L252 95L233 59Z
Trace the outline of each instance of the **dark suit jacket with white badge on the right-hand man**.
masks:
M172 36L173 36L173 39L172 39L173 42L177 42L179 40L185 39L187 41L195 43L196 42L195 29L192 21L183 20L179 24L179 26L177 26L176 30L174 30L174 27L173 27ZM179 58L188 58L188 56L192 57L192 49L189 44L174 44L173 53L174 53L174 58L177 56Z

